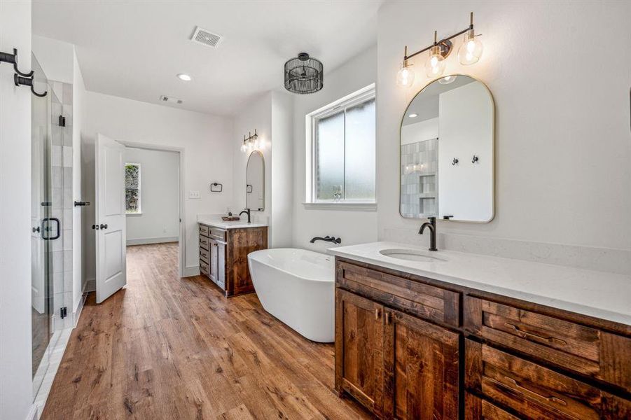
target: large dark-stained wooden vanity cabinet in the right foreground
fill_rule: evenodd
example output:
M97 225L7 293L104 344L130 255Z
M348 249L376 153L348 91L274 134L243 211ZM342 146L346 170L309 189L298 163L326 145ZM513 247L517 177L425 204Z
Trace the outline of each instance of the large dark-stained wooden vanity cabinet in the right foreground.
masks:
M336 258L335 389L382 419L631 419L631 327Z

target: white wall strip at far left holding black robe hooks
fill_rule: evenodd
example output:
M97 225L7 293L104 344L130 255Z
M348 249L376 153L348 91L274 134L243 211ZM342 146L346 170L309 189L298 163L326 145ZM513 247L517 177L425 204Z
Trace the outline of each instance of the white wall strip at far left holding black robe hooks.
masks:
M0 51L31 69L31 2L0 1ZM31 92L0 65L0 418L32 407Z

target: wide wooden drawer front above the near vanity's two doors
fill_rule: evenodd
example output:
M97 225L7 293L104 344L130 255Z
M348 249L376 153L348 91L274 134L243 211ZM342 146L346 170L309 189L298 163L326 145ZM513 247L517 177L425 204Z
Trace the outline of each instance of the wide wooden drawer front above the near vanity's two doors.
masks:
M452 327L459 326L460 294L418 281L338 262L338 286L395 309Z

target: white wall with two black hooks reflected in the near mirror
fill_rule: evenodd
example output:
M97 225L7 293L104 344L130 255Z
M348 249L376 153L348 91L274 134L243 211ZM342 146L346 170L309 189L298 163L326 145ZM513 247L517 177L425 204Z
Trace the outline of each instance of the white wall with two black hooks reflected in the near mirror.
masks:
M482 83L438 97L438 215L486 222L493 218L493 102ZM478 162L471 162L473 155ZM458 158L458 165L452 160Z

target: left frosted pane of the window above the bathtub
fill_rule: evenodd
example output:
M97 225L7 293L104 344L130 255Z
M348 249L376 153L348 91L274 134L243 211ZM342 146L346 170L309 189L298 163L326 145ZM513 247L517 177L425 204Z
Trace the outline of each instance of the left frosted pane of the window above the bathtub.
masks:
M333 200L344 186L344 113L317 120L317 200ZM343 197L343 195L342 195Z

